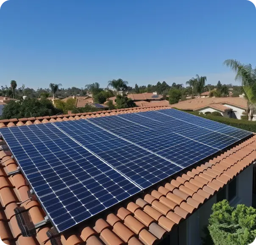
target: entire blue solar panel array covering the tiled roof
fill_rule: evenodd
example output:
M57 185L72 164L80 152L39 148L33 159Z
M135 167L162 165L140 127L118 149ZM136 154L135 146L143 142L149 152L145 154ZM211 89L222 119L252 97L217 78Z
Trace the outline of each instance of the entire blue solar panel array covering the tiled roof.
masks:
M0 133L59 232L252 134L174 109Z

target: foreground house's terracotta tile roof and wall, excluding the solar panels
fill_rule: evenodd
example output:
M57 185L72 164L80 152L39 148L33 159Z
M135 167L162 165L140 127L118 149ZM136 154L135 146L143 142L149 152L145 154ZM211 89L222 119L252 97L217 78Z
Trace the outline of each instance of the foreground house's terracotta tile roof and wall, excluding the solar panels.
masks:
M136 107L106 112L88 112L51 117L1 120L0 128L40 124L80 118L114 116L125 113L170 109L168 106ZM154 140L154 139L152 139ZM0 141L0 144L3 144ZM208 224L211 207L228 199L231 205L252 204L253 162L256 159L256 136L222 150L207 161L174 174L158 185L107 209L94 219L80 223L61 235L49 233L51 224L36 230L36 236L23 237L17 226L14 208L28 199L29 186L8 151L0 150L0 239L6 244L63 245L200 245L203 228ZM22 204L33 223L44 220L38 201Z

